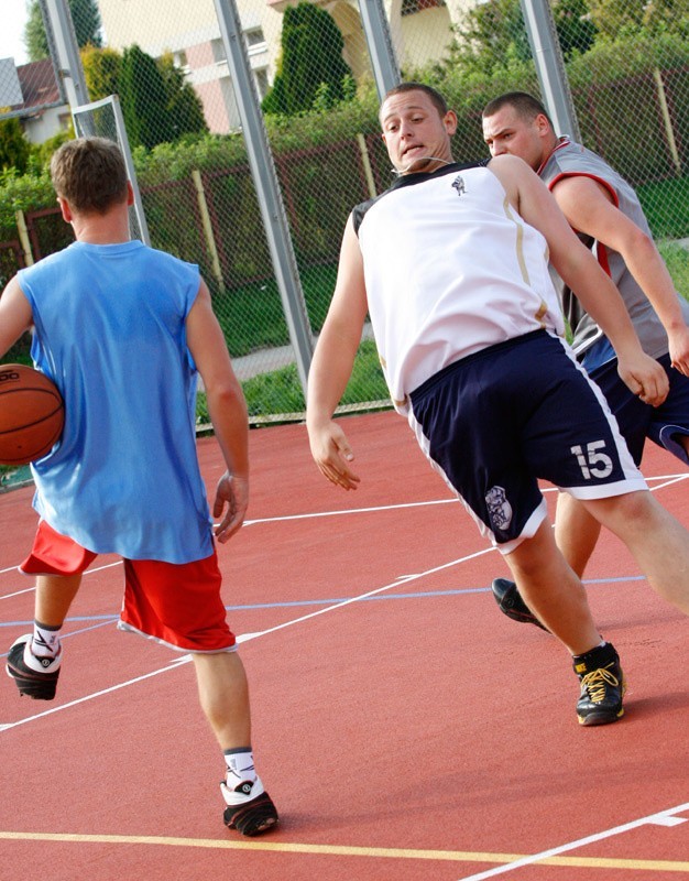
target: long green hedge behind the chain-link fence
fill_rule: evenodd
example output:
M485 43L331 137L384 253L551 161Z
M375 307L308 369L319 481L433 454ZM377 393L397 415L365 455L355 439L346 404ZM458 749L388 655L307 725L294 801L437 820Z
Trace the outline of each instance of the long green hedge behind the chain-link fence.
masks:
M654 233L687 237L687 181L677 180L677 168L671 165L664 142L654 80L656 68L661 70L671 93L677 143L680 150L688 151L689 115L685 108L689 107L689 46L680 39L661 34L619 43L600 41L567 67L584 142L602 152L642 193L649 184L660 183L661 202L653 205L650 198L644 197L645 206L650 208ZM531 62L511 61L491 76L467 74L458 65L447 65L408 72L407 78L412 77L438 87L457 109L459 126L453 146L459 161L488 155L481 137L481 110L488 100L510 89L538 93ZM358 132L368 139L379 188L391 180L379 137L375 91L368 84L360 87L354 100L327 112L291 118L269 116L265 124L286 202L298 220L291 218L299 270L332 263L351 206L368 195L358 180ZM680 161L682 168L689 165L686 152ZM198 224L190 219L196 199L192 172L198 170L219 226L215 232L220 242L226 287L236 290L272 279L241 135L186 135L175 144L161 144L151 151L139 148L134 163L156 247L187 260L200 260L205 276L212 282ZM33 211L54 204L47 174L2 175L0 241L17 238L14 218L19 208ZM181 222L181 217L188 219ZM58 218L51 222L62 225ZM45 227L47 246L42 232L42 252L48 253L51 247L62 247L62 239L61 233L47 229L47 220ZM62 230L64 237L64 225ZM3 268L4 261L0 262L2 274ZM214 293L220 294L217 287Z

